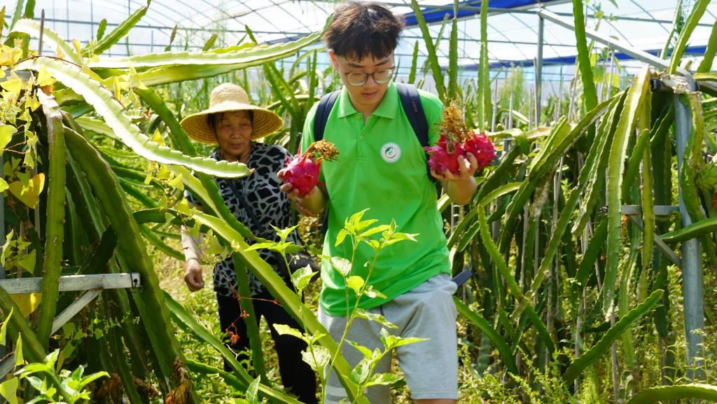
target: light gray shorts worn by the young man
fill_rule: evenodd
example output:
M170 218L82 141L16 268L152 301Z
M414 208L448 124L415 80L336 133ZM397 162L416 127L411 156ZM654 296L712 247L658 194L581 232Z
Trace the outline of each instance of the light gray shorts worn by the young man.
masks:
M371 313L381 314L398 326L389 329L391 334L400 337L428 338L428 341L403 345L396 349L398 363L404 372L406 383L413 400L458 399L458 354L455 319L457 311L452 295L456 284L445 273L434 276L428 281L398 296L379 307L370 309ZM346 328L345 316L329 316L319 310L319 321L336 342L341 339ZM355 319L348 330L349 341L356 342L371 350L381 344L381 324L366 319ZM344 343L341 353L351 367L356 366L363 355L358 349ZM384 357L374 373L391 371L391 359ZM338 404L346 398L346 391L331 372L326 385L326 403ZM371 386L366 398L372 404L391 403L389 386Z

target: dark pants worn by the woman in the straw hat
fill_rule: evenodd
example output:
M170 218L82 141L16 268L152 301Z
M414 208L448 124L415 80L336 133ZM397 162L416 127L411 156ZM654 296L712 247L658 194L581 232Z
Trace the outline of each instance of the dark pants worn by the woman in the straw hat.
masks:
M264 316L269 324L277 357L279 357L279 373L284 387L290 393L298 396L303 403L318 403L316 400L316 377L309 365L301 359L301 352L306 349L306 343L290 335L279 335L274 329L274 324L287 324L289 327L299 330L302 327L281 306L272 302L274 298L269 293L262 293L254 297L267 300L252 300L256 314L255 321L259 324L259 320ZM227 342L227 346L234 352L250 349L247 324L242 319L239 301L229 296L219 295L217 295L217 301L219 302L219 324L222 326L222 332L227 333L227 329L229 329L239 337L234 344ZM231 327L232 323L236 329ZM227 372L231 372L231 368L227 369L226 363L224 363L224 368Z

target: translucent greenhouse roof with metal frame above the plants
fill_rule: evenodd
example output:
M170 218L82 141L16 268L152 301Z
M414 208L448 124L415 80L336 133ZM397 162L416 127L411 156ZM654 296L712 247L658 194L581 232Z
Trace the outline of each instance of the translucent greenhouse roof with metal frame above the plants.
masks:
M429 31L437 37L443 18L452 17L452 4L447 0L419 1L429 24ZM415 26L415 17L409 0L379 1L389 6L397 14L404 15L407 29L397 49L397 64L402 69L410 65L410 57L414 41L419 42L419 63L426 57L422 34ZM602 4L591 2L587 6L585 18L590 27L600 21L603 34L619 35L622 40L638 49L655 52L661 46L660 40L667 37L672 27L674 4L670 0L625 0L619 6L611 0L603 0ZM143 0L55 0L54 7L47 11L47 27L54 29L62 37L78 39L87 43L94 39L100 20L108 19L108 27L115 27L127 14L144 6ZM616 3L617 4L617 3ZM219 34L217 45L234 44L244 37L247 24L257 35L260 42L285 42L315 32L326 22L326 17L338 4L336 1L315 0L153 0L149 11L137 25L136 30L123 43L116 44L107 52L108 56L125 56L128 53L141 54L163 50L169 43L168 39L175 24L179 26L179 34L172 49L199 50L206 39L214 33ZM10 7L13 5L11 4ZM39 9L49 6L46 1L37 1L35 14ZM538 37L538 9L540 7L561 17L572 16L572 5L569 0L490 0L488 19L488 42L490 66L493 69L504 69L511 65L530 67L536 57ZM12 15L9 8L6 21ZM71 11L71 12L70 12ZM125 13L125 15L123 15ZM698 24L698 31L693 35L692 55L698 55L700 47L706 44L706 34L717 14L717 5L708 6L707 13ZM480 0L461 1L459 6L459 64L463 67L461 75L467 77L478 63L478 18L480 16ZM610 16L609 18L606 18ZM70 18L71 17L71 18ZM601 19L602 17L602 19ZM628 28L626 28L628 27ZM639 28L637 28L639 27ZM447 28L447 31L450 27ZM636 34L637 32L637 34ZM447 33L445 34L447 39ZM544 39L546 67L551 65L571 64L574 62L574 34L554 24L546 24ZM447 65L447 40L437 47L439 62ZM664 42L664 41L663 41ZM495 46L495 44L499 44ZM315 44L312 49L321 48ZM53 50L46 52L52 54ZM620 60L624 55L617 55ZM328 65L328 60L320 60ZM626 63L627 68L632 68ZM529 72L528 72L529 74Z

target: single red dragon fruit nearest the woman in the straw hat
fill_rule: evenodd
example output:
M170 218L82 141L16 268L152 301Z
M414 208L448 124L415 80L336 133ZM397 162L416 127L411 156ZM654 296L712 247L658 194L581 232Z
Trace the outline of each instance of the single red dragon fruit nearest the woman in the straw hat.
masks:
M321 162L333 161L336 156L338 151L333 143L325 140L314 142L303 154L299 152L291 160L286 158L284 182L292 184L299 195L305 197L319 184Z

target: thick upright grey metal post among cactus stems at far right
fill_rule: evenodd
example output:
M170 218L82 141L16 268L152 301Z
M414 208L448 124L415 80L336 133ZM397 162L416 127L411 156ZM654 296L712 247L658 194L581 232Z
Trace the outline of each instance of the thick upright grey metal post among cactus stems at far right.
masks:
M688 78L690 91L695 90L695 83ZM688 136L692 131L692 111L688 105L681 102L682 95L675 94L675 132L677 134L677 164L678 172L682 169L683 155L687 145ZM679 187L679 207L682 227L692 224L692 218L687 212L682 198L682 188ZM700 242L696 238L682 243L682 279L683 299L685 310L685 340L687 341L688 377L690 379L704 379L703 372L703 342L701 331L704 329L705 313L703 302L702 268L700 266Z

